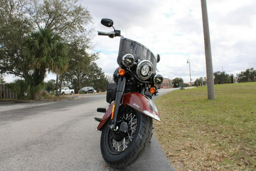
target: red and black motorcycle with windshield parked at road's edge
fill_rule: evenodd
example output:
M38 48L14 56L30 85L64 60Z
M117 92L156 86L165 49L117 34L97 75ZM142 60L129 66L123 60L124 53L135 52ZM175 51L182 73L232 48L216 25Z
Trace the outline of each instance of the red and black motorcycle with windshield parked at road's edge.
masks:
M118 67L113 73L114 83L107 86L109 108L96 128L102 131L100 149L104 160L112 167L123 168L135 162L152 137L153 121L160 121L156 105L151 101L163 77L156 74L160 56L139 42L124 38L115 30L113 20L103 18L101 24L113 32L98 32L100 36L121 37L117 57ZM112 103L113 102L113 103Z

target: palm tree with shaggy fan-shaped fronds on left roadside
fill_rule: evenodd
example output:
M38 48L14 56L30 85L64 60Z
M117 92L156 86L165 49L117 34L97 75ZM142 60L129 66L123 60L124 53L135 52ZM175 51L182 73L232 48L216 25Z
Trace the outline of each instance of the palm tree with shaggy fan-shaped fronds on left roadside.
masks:
M29 95L34 98L45 88L46 72L61 73L68 68L68 47L61 36L49 29L31 32L24 43L25 63L30 74L25 76Z

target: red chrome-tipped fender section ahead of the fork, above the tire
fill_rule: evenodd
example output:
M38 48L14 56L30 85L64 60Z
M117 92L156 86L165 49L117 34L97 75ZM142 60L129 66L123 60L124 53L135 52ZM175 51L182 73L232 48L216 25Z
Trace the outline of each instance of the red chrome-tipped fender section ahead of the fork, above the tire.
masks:
M124 106L128 105L129 107L138 110L142 114L149 116L155 120L160 121L159 113L156 105L148 97L140 93L127 93L123 96Z

